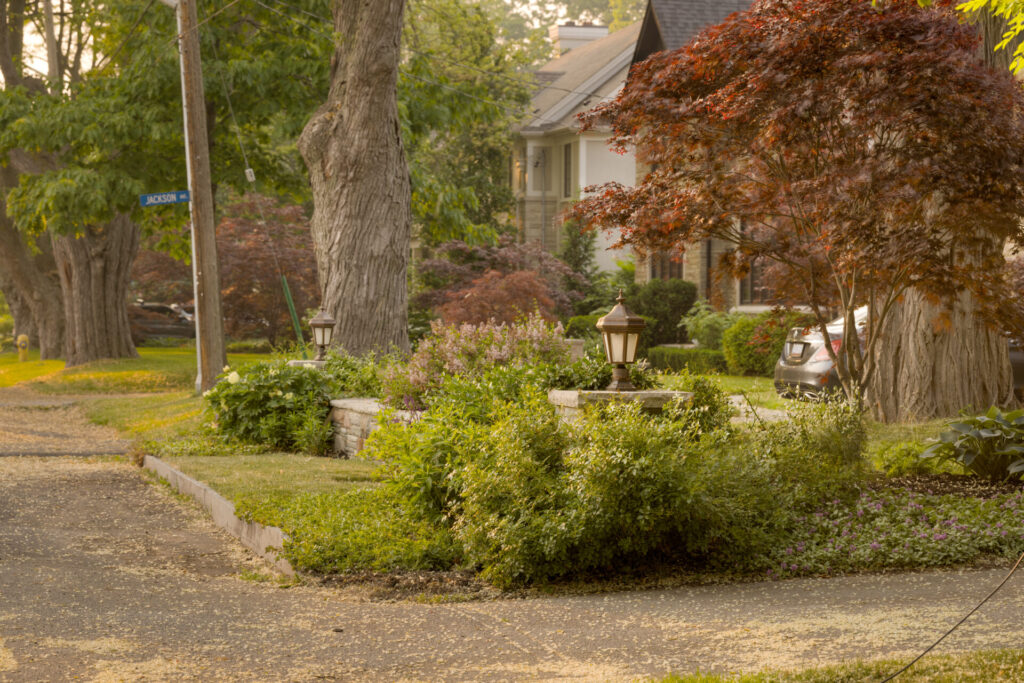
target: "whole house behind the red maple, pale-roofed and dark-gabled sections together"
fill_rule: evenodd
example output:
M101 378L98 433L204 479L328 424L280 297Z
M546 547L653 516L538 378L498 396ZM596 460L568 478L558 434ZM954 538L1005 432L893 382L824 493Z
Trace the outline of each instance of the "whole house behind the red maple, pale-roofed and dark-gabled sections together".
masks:
M662 50L689 42L706 27L750 7L752 0L648 0L638 24L608 33L606 27L566 24L551 29L559 56L536 74L530 118L517 131L513 152L512 188L515 221L520 237L541 242L557 253L564 240L560 215L583 188L610 181L636 182L638 169L632 154L608 148L607 129L579 132L577 115L614 97L625 85L630 68ZM613 270L629 251L611 250L615 237L599 234L596 260L602 270ZM755 265L742 281L716 278L725 243L690 245L685 253L658 253L637 264L637 281L682 278L696 284L698 295L719 308L757 310L766 307L768 291Z

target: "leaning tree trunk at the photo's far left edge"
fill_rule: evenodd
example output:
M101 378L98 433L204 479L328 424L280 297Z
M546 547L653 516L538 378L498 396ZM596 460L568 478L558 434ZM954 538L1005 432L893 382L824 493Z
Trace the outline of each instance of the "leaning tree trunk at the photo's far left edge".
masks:
M3 169L0 193L6 196L16 182L17 173ZM58 358L63 354L63 303L48 234L39 237L34 251L0 207L0 288L14 316L15 334L29 335L41 358Z

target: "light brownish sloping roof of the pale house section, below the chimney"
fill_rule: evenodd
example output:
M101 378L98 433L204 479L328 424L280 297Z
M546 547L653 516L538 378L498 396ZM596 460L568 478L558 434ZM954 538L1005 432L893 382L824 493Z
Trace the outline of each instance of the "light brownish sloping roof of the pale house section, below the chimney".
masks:
M575 129L575 114L614 95L626 82L639 32L637 22L541 67L532 114L520 131Z

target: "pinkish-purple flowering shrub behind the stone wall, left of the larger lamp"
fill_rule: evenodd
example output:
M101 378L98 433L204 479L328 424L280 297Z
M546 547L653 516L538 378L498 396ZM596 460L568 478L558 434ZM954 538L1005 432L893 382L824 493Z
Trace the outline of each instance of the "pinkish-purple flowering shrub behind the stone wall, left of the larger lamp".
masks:
M445 326L434 322L408 365L392 364L384 375L384 402L421 409L425 396L444 376L479 374L496 366L523 367L567 362L569 348L561 332L531 314L514 325Z

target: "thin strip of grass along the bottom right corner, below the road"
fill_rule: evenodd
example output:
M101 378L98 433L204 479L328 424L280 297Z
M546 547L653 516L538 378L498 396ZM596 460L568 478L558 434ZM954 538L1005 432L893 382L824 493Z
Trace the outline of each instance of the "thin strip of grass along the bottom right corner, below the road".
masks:
M908 661L908 660L907 660ZM882 681L907 661L853 663L800 672L765 672L745 676L691 674L669 676L660 683L861 683ZM1024 681L1024 650L982 650L967 654L928 654L896 679L900 683L987 683Z

